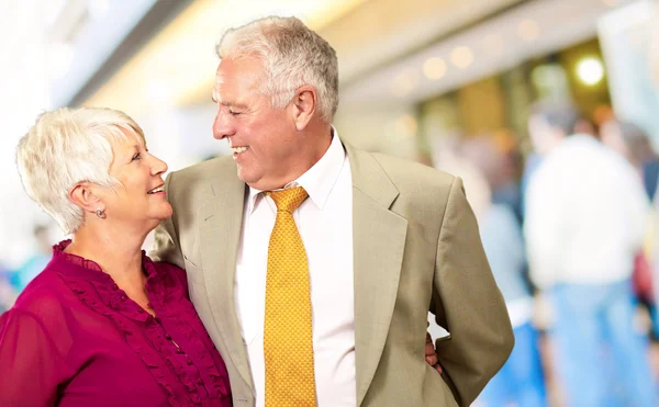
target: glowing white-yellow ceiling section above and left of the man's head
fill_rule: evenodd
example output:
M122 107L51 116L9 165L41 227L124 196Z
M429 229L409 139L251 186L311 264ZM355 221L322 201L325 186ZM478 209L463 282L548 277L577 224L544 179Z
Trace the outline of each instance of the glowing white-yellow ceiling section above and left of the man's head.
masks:
M225 30L270 14L299 15L322 30L365 0L250 0L248 8L244 3L192 1L85 104L139 115L154 106L208 102L217 66L215 44Z

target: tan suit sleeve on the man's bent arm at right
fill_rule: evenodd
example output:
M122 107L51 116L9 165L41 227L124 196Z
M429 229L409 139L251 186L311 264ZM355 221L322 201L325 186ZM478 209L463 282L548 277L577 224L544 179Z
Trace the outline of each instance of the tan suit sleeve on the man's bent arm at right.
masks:
M444 380L458 405L469 406L507 360L514 337L459 178L439 231L431 312L450 335L436 342Z

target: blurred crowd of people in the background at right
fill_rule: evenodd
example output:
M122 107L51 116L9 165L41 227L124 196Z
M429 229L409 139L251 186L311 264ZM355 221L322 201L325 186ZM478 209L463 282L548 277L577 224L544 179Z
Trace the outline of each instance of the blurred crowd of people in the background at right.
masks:
M567 101L529 109L533 150L462 136L435 166L461 177L515 348L481 406L656 406L659 158L634 123L595 128Z

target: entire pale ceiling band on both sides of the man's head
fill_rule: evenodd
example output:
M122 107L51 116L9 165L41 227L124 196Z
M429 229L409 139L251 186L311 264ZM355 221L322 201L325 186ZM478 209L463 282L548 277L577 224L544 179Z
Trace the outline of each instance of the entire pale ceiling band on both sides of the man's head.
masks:
M222 33L253 19L298 15L336 49L342 106L415 103L594 37L627 0L198 0L85 104L139 115L209 103Z

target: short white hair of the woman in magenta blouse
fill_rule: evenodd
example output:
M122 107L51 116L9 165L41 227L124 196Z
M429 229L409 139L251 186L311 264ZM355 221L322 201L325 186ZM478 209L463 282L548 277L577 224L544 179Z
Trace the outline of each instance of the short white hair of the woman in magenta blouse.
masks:
M109 174L110 140L126 139L124 132L144 139L142 128L123 112L63 108L41 114L19 142L16 166L25 192L66 234L74 234L83 222L82 208L68 196L76 183L120 184Z

